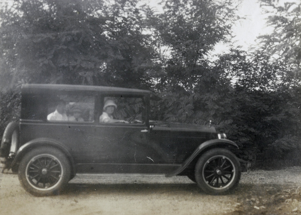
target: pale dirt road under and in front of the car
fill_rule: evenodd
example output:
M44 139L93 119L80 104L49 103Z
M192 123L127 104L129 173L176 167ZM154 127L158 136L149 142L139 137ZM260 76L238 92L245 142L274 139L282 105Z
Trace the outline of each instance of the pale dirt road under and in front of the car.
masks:
M187 177L76 176L58 196L34 197L0 176L1 214L300 214L301 168L243 173L230 194L202 192Z

